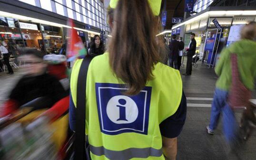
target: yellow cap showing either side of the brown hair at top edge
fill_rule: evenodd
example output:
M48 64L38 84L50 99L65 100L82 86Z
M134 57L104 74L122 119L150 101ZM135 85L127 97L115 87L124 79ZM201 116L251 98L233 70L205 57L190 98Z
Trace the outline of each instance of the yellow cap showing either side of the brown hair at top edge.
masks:
M161 2L162 0L148 0L148 3L151 6L151 9L155 16L158 16L160 13ZM117 5L118 5L118 0L110 0L109 6L112 9L115 9Z

